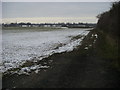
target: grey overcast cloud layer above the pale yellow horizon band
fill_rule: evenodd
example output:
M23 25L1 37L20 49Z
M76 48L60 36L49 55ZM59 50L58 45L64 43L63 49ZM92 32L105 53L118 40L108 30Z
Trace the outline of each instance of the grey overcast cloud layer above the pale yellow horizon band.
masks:
M96 17L110 2L2 2L3 18Z

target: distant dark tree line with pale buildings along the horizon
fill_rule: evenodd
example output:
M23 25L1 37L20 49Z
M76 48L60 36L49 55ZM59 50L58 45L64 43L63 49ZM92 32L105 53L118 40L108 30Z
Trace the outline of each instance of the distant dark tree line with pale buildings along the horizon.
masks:
M93 23L10 23L2 24L3 27L68 27L68 28L79 28L79 27L95 27L96 24Z

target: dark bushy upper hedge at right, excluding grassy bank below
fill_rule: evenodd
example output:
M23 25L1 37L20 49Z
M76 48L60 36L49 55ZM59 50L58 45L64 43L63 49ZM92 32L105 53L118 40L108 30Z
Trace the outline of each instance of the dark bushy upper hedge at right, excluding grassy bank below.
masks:
M112 4L109 11L97 16L99 18L97 28L113 36L120 36L118 33L120 25L120 1Z

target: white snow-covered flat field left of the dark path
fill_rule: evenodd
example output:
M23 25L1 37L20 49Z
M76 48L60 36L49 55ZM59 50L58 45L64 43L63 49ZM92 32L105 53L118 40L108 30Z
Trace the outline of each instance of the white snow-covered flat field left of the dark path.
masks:
M4 30L2 34L3 66L0 66L0 71L17 68L34 57L37 58L36 60L42 60L54 53L72 51L88 34L89 31L86 30L89 29ZM83 37L72 39L77 35Z

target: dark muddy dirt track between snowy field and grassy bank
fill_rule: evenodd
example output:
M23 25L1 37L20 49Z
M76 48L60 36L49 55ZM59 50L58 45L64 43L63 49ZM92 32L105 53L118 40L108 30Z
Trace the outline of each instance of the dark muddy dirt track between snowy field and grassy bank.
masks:
M79 49L55 54L50 68L38 74L3 77L3 88L116 88L120 87L120 73L110 67L110 60L96 55L91 34Z

